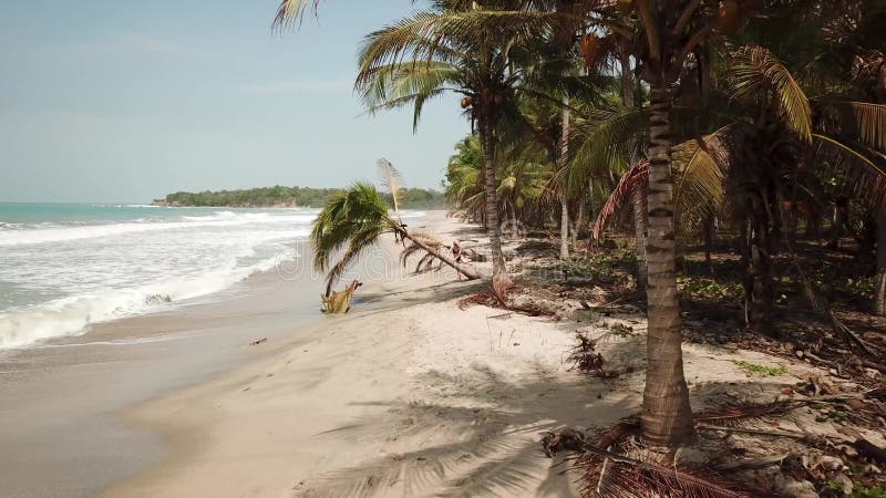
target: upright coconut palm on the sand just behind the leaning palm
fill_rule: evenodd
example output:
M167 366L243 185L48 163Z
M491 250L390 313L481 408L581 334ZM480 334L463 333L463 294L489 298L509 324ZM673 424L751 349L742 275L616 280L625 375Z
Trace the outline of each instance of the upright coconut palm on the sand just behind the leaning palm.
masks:
M514 112L522 85L515 54L543 39L558 18L547 12L506 10L508 2L437 0L367 37L356 87L371 112L412 105L413 126L424 104L446 92L464 95L472 124L476 123L483 152L485 220L490 231L493 282L511 286L501 243L495 176L498 126Z

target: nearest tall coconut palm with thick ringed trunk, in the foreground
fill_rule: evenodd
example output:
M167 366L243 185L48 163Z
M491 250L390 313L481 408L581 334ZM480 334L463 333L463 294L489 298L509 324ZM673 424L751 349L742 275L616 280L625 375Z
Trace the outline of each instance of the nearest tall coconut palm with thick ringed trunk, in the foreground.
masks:
M679 15L676 13L679 12ZM648 338L642 432L647 440L674 446L693 432L683 374L680 303L674 264L671 181L671 89L690 53L711 33L717 17L699 0L618 2L594 12L614 44L630 53L650 86L648 235Z

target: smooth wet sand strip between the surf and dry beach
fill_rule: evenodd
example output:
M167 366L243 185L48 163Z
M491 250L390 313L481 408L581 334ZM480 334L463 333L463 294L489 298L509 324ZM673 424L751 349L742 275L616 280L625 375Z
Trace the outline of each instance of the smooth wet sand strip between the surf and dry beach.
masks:
M324 286L310 270L307 246L293 243L300 266L284 273L254 273L172 309L6 351L2 494L93 496L165 458L169 448L161 437L119 414L272 355L326 320L319 313ZM356 297L363 300L361 307L372 305L368 293ZM268 344L248 345L266 336Z

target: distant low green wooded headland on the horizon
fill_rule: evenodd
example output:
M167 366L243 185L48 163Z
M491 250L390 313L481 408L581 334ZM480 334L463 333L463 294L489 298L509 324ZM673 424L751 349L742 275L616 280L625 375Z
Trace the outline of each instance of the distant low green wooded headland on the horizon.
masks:
M154 200L159 206L196 207L322 207L342 188L274 187L249 188L245 190L204 190L199 193L177 191L163 199ZM400 190L400 206L405 209L445 208L443 193L424 188L403 188ZM392 204L390 194L383 194Z

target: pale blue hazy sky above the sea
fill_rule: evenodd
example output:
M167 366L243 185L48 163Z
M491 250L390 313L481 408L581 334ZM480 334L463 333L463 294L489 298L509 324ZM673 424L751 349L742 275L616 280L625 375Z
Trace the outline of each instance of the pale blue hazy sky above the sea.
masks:
M324 0L274 33L279 0L0 4L0 201L142 203L177 190L375 180L440 188L470 132L459 97L369 116L363 37L410 0ZM419 3L419 7L421 4Z

